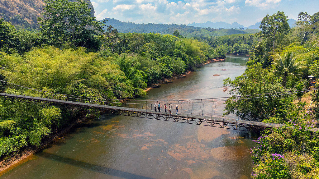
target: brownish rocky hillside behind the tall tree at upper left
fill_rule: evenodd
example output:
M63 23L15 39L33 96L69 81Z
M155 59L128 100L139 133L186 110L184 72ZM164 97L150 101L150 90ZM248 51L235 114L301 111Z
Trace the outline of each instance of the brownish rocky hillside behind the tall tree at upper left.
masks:
M75 1L75 0L69 0ZM90 0L85 0L94 16L94 8ZM1 0L0 18L11 22L16 27L39 27L37 18L43 12L44 0Z

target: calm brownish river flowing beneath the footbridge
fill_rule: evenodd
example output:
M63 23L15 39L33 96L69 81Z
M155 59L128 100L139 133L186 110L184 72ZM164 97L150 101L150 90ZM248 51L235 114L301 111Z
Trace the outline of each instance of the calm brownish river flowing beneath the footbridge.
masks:
M222 80L241 75L246 69L244 59L247 56L227 55L225 61L209 63L151 89L143 99L224 97ZM0 175L2 179L245 179L250 178L253 165L250 148L256 146L251 135L106 114L81 124Z

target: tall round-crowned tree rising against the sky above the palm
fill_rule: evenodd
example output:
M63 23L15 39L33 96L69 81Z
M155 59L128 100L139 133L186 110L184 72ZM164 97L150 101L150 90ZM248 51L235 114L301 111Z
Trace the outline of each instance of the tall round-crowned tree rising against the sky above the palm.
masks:
M272 49L275 49L275 41L280 34L287 34L289 32L288 16L284 12L278 11L277 14L267 14L261 21L259 28L262 29L261 35L264 38L272 41Z

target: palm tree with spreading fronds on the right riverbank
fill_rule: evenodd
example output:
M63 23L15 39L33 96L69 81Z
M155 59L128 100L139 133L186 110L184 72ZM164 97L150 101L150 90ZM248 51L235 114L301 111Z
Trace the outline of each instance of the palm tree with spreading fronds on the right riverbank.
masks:
M307 66L303 66L303 63L301 61L296 62L292 54L292 52L287 52L285 54L285 58L282 58L278 54L279 58L274 61L275 69L273 71L273 74L284 77L282 84L285 87L288 76L297 77L303 73L304 69L308 68Z

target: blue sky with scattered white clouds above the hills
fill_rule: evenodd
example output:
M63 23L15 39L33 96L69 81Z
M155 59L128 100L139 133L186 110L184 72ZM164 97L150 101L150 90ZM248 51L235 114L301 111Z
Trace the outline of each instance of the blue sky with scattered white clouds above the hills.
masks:
M319 0L91 0L98 20L115 18L125 22L191 24L207 21L254 25L267 14L283 11L297 20L300 12L313 15Z

